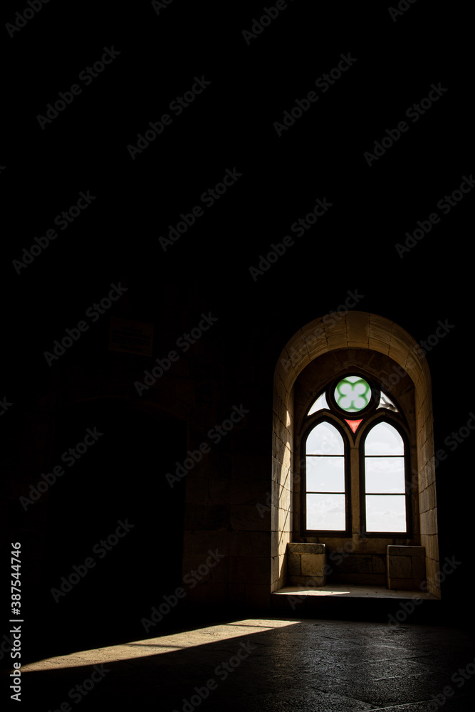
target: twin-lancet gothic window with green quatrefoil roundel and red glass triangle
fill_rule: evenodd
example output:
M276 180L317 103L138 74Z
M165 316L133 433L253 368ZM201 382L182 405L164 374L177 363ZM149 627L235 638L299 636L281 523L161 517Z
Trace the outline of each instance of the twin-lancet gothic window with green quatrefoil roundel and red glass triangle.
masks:
M303 536L411 535L404 418L373 379L350 373L328 384L308 411L301 453Z

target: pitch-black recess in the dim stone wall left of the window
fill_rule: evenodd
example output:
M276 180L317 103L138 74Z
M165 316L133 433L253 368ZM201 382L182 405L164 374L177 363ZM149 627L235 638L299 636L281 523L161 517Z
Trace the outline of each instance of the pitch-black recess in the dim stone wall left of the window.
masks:
M185 486L170 488L165 473L185 449L184 424L130 402L61 413L53 463L64 474L48 491L37 645L143 636L140 619L181 581Z

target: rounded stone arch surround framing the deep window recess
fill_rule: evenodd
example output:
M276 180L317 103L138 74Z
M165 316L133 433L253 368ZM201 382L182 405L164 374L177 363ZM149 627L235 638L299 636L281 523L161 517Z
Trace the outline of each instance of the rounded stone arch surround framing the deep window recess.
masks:
M437 582L439 547L435 496L434 434L429 366L417 342L391 320L366 312L347 312L313 320L283 348L273 379L273 451L271 590L286 583L286 545L293 519L293 386L298 375L317 357L333 350L365 349L380 352L402 367L414 384L417 473L421 545L426 550L428 592L440 597Z

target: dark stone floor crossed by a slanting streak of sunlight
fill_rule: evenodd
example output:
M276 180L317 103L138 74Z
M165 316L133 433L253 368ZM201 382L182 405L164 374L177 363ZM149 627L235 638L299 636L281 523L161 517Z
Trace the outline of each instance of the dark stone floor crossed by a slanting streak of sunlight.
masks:
M21 677L23 708L45 712L471 712L475 639L409 622L236 619L33 662Z

